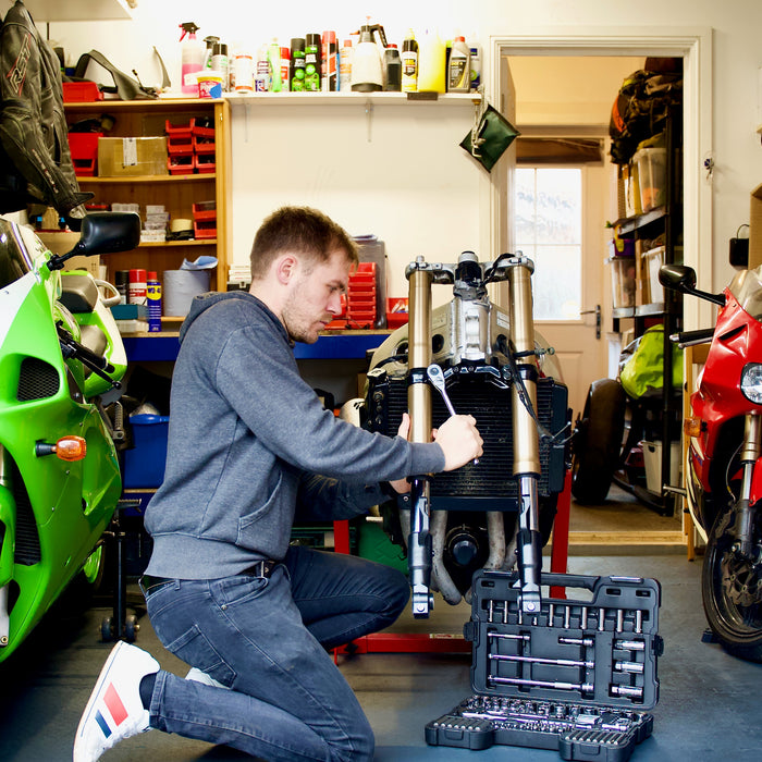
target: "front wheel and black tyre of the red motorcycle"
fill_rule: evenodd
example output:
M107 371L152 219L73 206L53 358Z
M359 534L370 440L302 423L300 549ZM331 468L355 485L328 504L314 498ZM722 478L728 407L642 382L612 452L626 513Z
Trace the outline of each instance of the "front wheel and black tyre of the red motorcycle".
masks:
M723 648L735 656L762 662L762 518L754 518L751 558L736 550L737 520L730 506L721 512L706 541L701 577L706 620Z

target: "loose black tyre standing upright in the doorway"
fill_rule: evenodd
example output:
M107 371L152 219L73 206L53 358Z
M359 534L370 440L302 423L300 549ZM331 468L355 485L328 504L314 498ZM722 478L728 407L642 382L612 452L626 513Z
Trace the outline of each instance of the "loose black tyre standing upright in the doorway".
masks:
M593 381L577 418L572 494L579 503L602 503L619 466L627 397L618 381Z

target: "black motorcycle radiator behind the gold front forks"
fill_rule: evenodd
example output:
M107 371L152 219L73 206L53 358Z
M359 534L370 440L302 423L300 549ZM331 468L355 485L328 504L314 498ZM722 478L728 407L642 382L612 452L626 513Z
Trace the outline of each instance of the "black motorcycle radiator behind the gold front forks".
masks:
M446 511L516 511L518 483L513 475L513 390L489 367L453 368L446 389L458 414L472 415L484 441L479 463L454 471L437 474L431 496L437 508ZM567 389L551 378L537 384L537 416L545 432L555 434L567 422ZM441 396L432 393L432 422L441 426L448 417ZM368 428L394 435L407 410L407 378L392 377L383 369L368 373ZM564 488L565 444L540 439L540 496Z

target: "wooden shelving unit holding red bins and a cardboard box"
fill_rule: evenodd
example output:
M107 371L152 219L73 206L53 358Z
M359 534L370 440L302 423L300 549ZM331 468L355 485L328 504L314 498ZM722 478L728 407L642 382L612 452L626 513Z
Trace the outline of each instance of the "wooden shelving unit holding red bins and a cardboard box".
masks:
M214 200L217 205L217 237L165 243L145 243L132 251L103 258L108 276L113 282L116 270L144 268L156 270L161 280L164 270L176 270L184 259L201 255L217 257L211 288L224 291L228 281L230 236L230 106L223 99L157 99L102 100L66 103L67 123L97 119L109 114L114 127L108 137L157 137L164 135L167 121L187 123L192 118L206 118L214 125L216 171L204 174L160 174L144 176L78 176L79 187L95 194L93 202L163 205L170 219L192 219L193 204Z

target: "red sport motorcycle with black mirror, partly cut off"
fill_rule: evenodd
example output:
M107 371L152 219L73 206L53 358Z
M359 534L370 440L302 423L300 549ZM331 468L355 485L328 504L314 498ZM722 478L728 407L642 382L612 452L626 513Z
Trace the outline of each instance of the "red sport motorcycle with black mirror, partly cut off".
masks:
M673 336L711 342L691 395L685 464L688 506L706 541L706 619L730 653L762 661L762 267L739 272L722 294L696 287L696 272L665 265L667 288L720 305L713 329Z

